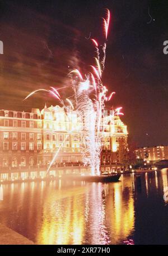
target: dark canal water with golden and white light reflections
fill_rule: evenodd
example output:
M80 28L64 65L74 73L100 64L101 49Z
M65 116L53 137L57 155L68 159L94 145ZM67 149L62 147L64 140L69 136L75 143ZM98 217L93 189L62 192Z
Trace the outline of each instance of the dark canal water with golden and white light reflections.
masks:
M168 244L168 170L136 175L2 185L0 223L37 244Z

